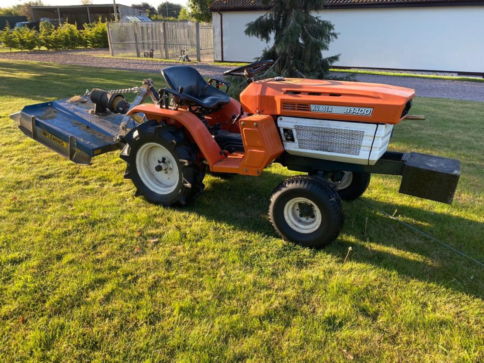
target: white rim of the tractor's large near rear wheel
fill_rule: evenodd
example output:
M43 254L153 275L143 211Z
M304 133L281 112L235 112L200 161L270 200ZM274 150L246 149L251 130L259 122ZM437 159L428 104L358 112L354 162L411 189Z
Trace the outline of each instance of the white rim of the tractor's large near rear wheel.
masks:
M180 179L175 158L165 147L147 142L136 153L136 170L139 178L154 193L173 192Z

